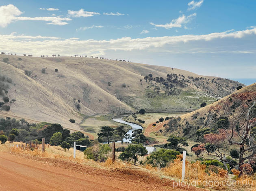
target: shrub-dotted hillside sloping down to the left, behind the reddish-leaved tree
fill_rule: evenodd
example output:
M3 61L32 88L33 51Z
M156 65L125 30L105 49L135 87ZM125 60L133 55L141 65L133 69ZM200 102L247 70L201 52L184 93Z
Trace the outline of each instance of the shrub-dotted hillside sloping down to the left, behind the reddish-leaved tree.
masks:
M238 91L213 102L203 108L189 112L178 118L168 121L163 134L186 136L194 141L202 141L203 135L210 132L216 133L217 129L236 124L234 119L242 114L240 101L234 95L244 95L248 102L255 100L256 83L243 87ZM254 98L251 98L251 97ZM215 112L213 112L215 111ZM213 113L215 113L213 115ZM216 115L217 114L217 115ZM240 120L241 121L241 120ZM234 124L233 124L234 123Z

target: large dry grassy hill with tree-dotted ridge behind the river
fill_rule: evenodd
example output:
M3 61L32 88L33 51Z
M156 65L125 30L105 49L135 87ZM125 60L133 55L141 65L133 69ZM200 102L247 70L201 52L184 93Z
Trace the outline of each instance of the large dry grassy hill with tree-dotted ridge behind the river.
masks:
M176 68L85 57L0 55L0 75L0 97L15 100L0 115L70 129L85 115L191 111L244 86Z

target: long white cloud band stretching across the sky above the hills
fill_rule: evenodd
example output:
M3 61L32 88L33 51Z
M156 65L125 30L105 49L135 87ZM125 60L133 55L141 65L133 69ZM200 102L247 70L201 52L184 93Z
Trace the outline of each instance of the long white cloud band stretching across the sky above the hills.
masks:
M61 55L97 53L104 55L109 51L144 50L161 53L256 53L254 43L256 28L243 31L225 31L202 35L181 35L147 38L123 37L111 40L78 40L58 37L0 35L0 45L4 52L47 55L58 52ZM43 39L45 38L45 39ZM47 39L48 38L48 39ZM32 39L32 40L31 40ZM33 40L34 39L34 40ZM255 41L255 40L254 40ZM255 42L256 43L256 42Z

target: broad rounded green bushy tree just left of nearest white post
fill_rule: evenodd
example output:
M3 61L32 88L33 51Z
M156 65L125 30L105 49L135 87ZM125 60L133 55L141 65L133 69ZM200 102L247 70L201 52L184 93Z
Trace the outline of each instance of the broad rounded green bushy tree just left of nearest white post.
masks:
M160 151L151 153L150 156L147 157L146 163L158 168L164 168L171 160L176 159L176 155L180 155L180 152L161 149Z

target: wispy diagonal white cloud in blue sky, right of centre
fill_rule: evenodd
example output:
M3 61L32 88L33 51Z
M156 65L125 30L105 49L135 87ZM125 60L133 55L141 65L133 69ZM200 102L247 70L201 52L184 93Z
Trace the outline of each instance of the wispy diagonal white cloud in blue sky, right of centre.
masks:
M182 15L182 16L178 17L178 19L173 19L170 23L166 23L166 24L150 23L150 24L154 25L155 27L163 27L166 29L181 28L182 25L189 23L195 16L196 16L196 13L193 13L189 16Z

